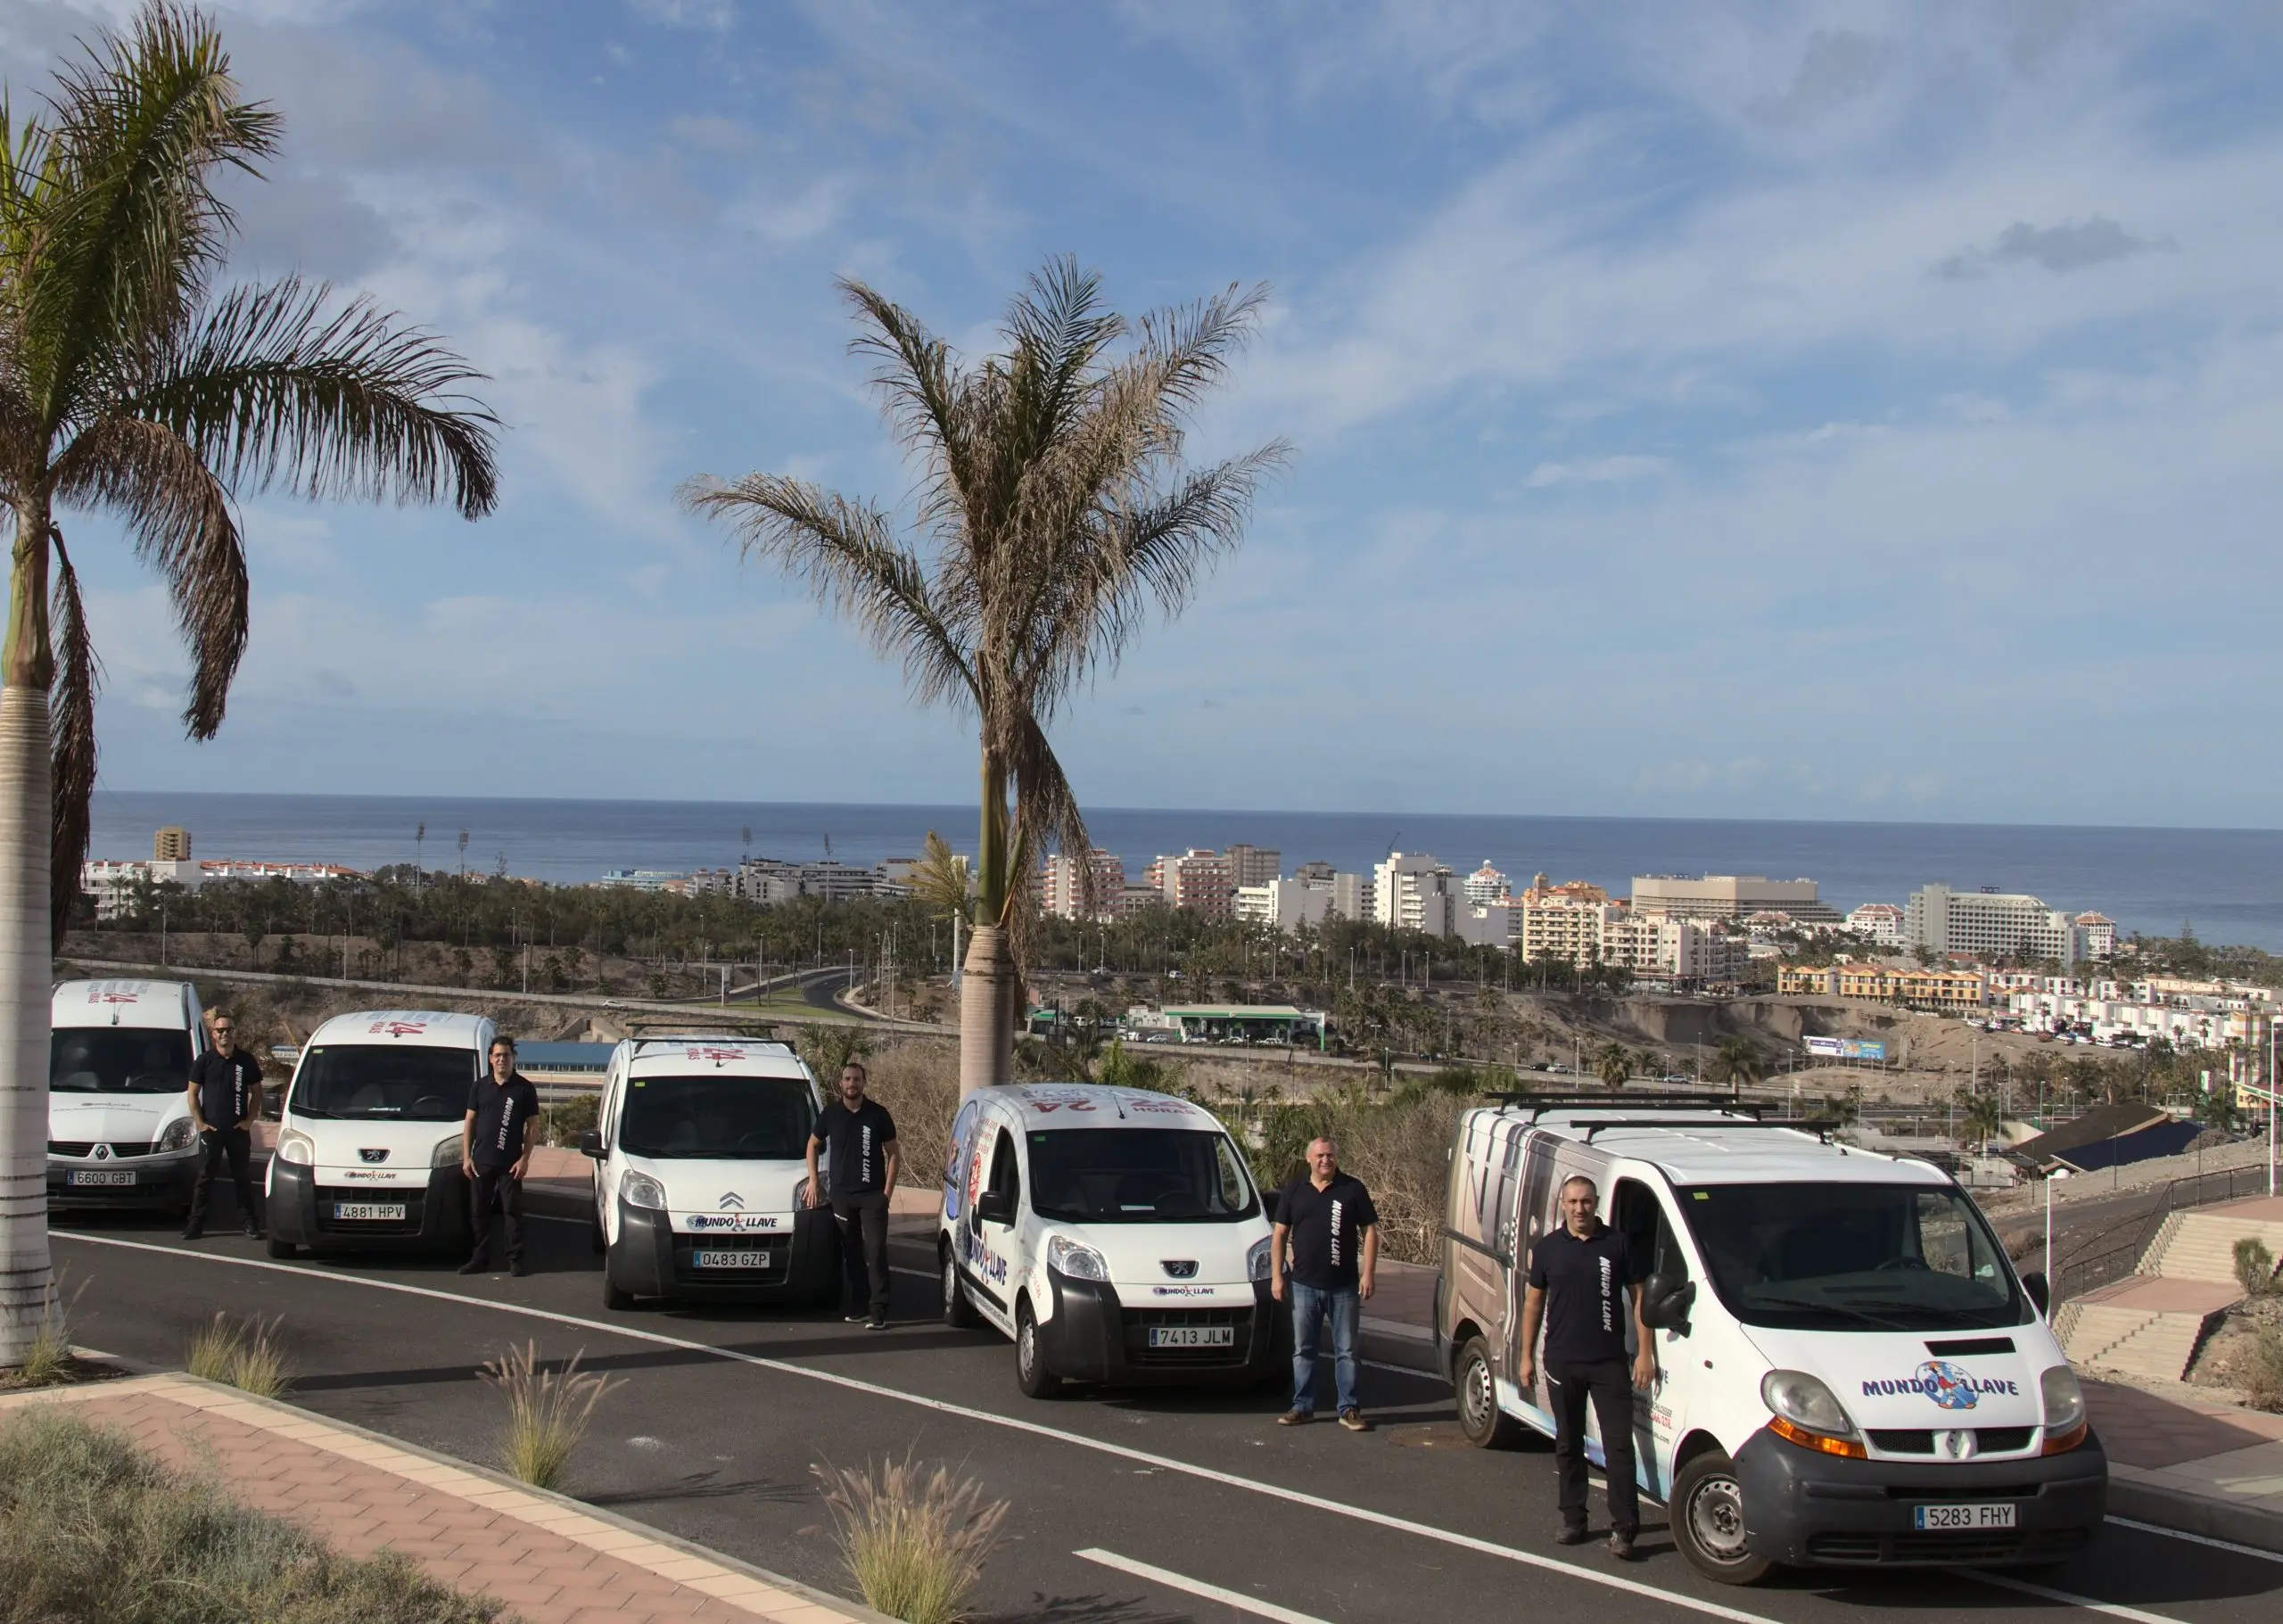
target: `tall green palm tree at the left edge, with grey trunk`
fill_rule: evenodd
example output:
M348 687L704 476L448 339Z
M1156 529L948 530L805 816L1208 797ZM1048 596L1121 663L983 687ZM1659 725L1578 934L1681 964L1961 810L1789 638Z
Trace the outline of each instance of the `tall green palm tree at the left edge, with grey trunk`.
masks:
M48 1307L48 978L96 779L96 651L55 509L107 509L164 578L203 740L247 646L242 496L495 500L495 420L429 333L297 279L215 290L233 219L212 180L276 139L212 23L164 0L96 34L41 112L0 107L0 1366Z

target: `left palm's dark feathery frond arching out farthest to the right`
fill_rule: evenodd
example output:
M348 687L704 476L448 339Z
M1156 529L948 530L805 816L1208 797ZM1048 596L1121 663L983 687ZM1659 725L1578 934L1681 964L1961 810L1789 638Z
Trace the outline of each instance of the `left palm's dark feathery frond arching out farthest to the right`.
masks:
M431 503L482 518L500 496L482 372L370 299L288 276L226 295L155 356L128 416L164 423L237 489Z

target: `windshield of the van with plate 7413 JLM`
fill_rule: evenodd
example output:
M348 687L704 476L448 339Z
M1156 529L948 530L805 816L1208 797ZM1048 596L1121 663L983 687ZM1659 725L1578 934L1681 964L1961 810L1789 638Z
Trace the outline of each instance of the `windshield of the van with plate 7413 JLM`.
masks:
M1226 1222L1258 1211L1228 1135L1194 1128L1032 1133L1030 1190L1039 1217L1089 1224Z

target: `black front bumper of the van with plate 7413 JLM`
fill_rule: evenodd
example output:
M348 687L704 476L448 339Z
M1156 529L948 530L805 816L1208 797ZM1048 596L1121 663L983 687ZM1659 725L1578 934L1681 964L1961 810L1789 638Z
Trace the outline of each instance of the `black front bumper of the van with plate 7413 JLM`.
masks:
M1046 1368L1068 1382L1151 1386L1237 1386L1290 1364L1290 1316L1278 1313L1265 1279L1249 1304L1128 1307L1103 1279L1068 1279L1048 1270L1055 1311L1039 1325ZM1228 1348L1151 1350L1151 1325L1228 1325ZM1281 1354L1281 1357L1278 1357Z

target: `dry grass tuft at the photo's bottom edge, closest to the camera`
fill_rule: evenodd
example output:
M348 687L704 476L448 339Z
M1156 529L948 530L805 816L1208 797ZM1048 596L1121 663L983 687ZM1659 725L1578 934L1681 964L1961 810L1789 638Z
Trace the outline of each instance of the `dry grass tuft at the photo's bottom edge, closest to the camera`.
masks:
M902 1128L902 1124L897 1124ZM1007 1501L984 1505L975 1478L904 1460L870 1469L810 1466L840 1526L840 1555L865 1603L904 1624L959 1624Z

